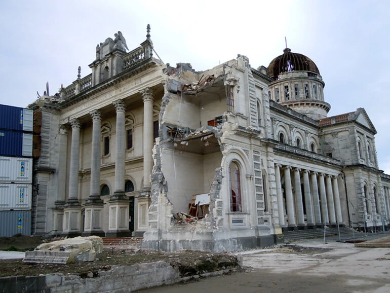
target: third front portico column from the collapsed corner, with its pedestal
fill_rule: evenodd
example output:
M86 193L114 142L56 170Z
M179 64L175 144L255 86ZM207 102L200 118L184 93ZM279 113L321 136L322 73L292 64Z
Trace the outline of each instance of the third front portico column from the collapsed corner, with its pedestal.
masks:
M98 110L90 112L92 116L92 149L91 149L91 184L90 196L85 203L85 221L83 236L104 236L102 229L103 200L100 199L100 143L101 143L101 113Z

